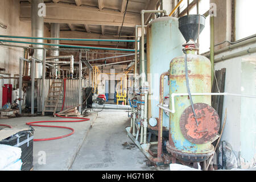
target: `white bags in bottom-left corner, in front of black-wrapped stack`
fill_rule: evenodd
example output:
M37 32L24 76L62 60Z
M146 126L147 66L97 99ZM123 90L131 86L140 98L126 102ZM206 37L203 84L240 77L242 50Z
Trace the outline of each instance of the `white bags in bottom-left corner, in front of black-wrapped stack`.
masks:
M0 144L0 171L20 171L21 155L21 148Z

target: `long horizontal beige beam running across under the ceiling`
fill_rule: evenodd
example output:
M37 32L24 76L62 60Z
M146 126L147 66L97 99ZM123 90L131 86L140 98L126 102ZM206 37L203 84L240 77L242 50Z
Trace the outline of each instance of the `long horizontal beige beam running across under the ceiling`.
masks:
M153 0L155 1L155 0ZM101 10L85 7L67 5L64 3L46 3L46 23L72 23L72 24L94 24L104 26L121 26L123 13L113 10ZM31 21L30 3L20 4L20 20ZM124 27L134 27L141 24L141 15L126 13Z

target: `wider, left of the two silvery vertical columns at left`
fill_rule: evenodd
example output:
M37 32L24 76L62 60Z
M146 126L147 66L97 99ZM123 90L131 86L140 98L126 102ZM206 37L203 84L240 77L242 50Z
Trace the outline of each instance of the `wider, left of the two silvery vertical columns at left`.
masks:
M34 37L44 36L44 17L39 16L38 12L41 9L40 3L44 0L32 0L31 1L31 32ZM33 42L43 43L43 40L32 40ZM42 45L34 45L33 47L43 47ZM34 57L39 60L43 60L43 49L35 49ZM35 78L42 78L42 63L36 63L35 65Z

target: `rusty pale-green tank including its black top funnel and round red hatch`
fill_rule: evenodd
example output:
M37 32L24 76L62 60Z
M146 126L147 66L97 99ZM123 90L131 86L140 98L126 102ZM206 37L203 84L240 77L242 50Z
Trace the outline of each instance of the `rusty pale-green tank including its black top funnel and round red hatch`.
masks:
M170 63L170 96L173 93L188 93L189 89L191 93L211 92L210 60L205 56L196 55L197 48L194 42L204 28L204 20L204 16L199 15L179 19L179 27L187 43L184 44L184 55L175 57ZM199 25L202 29L200 32ZM220 121L218 114L210 105L211 96L174 97L175 113L170 113L167 151L175 158L186 162L203 162L214 154L211 143L217 139ZM171 105L169 108L173 109Z

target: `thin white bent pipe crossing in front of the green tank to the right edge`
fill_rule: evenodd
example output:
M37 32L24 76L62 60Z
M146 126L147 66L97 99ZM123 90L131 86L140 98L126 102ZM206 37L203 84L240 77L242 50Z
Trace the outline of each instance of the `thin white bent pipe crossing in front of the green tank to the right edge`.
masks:
M188 96L188 93L172 93L171 94L172 109L168 109L167 107L164 107L163 105L157 105L157 106L165 111L168 111L169 113L175 113L174 97L176 97L176 96ZM236 97L256 98L256 96L233 94L233 93L228 93L228 92L224 92L224 93L191 93L191 96L236 96Z

